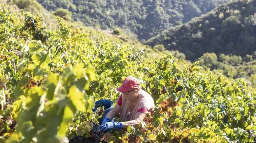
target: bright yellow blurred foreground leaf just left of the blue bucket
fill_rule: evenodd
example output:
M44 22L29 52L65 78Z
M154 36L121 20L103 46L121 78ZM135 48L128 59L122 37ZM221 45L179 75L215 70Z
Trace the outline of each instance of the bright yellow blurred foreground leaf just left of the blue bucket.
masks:
M84 94L75 85L69 88L68 96L78 111L84 112L86 110L83 104Z

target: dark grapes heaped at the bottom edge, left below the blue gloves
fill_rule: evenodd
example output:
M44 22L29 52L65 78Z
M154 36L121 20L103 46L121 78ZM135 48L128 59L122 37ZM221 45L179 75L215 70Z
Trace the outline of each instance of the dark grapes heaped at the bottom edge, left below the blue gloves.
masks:
M102 140L104 133L97 131L98 124L93 123L93 129L89 134L92 137L86 138L85 136L74 136L69 140L69 143L106 143L106 141ZM97 137L98 136L98 137Z

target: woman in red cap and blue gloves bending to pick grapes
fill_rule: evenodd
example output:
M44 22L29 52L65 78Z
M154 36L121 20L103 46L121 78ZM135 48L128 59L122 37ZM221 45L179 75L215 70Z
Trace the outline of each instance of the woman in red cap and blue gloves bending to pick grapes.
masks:
M154 108L154 100L149 93L141 89L140 82L133 76L124 79L117 89L121 92L116 106L108 112L98 130L107 132L111 129L125 129L128 126L137 127L145 118L150 108ZM120 113L121 120L127 122L110 122Z

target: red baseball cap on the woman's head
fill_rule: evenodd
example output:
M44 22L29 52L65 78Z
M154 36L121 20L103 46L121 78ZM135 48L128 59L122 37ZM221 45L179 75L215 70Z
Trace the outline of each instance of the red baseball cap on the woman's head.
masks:
M122 85L118 87L117 91L125 93L129 91L131 88L140 89L140 82L137 78L133 76L128 76L124 79Z

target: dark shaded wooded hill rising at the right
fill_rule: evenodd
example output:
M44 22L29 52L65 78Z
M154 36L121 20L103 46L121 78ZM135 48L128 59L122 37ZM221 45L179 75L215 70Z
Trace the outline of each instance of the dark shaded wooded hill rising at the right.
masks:
M171 27L147 44L163 44L167 50L178 50L192 61L207 52L245 57L256 51L255 31L256 1L237 0Z

